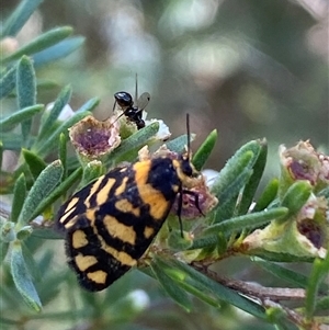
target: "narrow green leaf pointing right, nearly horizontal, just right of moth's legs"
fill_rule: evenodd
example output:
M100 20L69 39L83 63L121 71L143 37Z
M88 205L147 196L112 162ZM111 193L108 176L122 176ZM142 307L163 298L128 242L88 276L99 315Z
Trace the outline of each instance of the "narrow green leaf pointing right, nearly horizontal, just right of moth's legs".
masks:
M245 229L253 229L265 225L266 223L281 218L288 213L286 207L271 208L269 210L262 210L258 213L250 213L247 215L238 216L224 220L219 224L212 225L204 230L205 235L225 232L229 235L235 231L241 231Z

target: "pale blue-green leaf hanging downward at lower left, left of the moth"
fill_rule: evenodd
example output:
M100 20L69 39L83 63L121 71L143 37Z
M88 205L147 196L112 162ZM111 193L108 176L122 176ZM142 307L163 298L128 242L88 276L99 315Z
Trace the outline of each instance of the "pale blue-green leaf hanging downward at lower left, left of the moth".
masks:
M25 303L36 311L41 311L42 303L27 272L25 261L22 254L21 244L16 241L11 251L11 274L14 284L22 295Z

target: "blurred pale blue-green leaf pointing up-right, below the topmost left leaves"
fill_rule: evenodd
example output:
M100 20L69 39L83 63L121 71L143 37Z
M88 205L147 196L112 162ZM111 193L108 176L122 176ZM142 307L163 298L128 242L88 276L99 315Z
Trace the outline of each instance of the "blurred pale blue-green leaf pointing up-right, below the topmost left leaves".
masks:
M41 67L48 62L64 58L79 48L84 42L84 37L76 36L61 41L60 43L38 52L32 56L35 67Z

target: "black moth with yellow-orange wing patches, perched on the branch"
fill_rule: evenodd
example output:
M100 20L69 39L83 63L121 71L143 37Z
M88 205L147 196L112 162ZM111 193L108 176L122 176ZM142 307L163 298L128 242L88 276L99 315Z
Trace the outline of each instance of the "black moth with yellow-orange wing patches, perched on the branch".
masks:
M160 157L116 168L67 201L57 226L80 284L101 291L136 265L195 175L189 157Z

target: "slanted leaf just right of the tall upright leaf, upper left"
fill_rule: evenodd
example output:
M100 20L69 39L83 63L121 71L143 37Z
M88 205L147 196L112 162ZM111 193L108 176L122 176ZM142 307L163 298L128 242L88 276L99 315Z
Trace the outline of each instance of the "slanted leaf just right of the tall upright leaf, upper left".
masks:
M47 115L46 120L42 120L42 124L37 135L37 141L44 139L45 136L49 136L52 128L54 127L56 120L58 118L64 106L69 102L72 94L72 89L70 86L66 86L55 100L54 106L50 112L45 112L44 116Z

